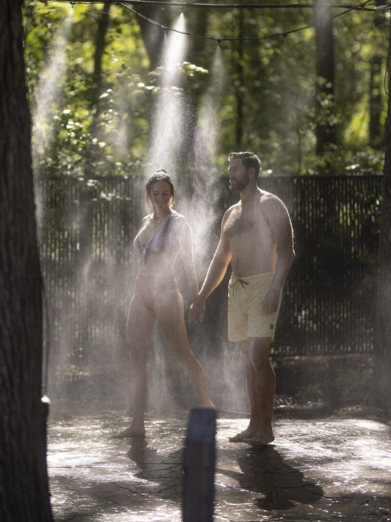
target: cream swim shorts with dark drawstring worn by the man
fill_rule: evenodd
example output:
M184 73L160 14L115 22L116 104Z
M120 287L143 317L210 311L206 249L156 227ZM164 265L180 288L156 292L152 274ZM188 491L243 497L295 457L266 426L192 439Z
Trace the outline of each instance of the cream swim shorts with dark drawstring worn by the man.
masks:
M277 312L266 315L262 310L273 276L274 272L247 277L231 275L228 286L229 341L245 341L248 337L270 337L274 340L283 290L280 290Z

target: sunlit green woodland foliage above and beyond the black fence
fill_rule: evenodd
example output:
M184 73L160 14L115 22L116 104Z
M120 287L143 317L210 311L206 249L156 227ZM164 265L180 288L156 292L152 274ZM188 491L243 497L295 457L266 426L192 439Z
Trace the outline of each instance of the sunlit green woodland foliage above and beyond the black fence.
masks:
M40 2L24 7L34 165L41 176L129 175L148 160L151 112L162 68L150 70L141 19L112 5L102 73L94 77L103 8ZM166 16L172 26L175 10ZM189 32L215 38L270 35L312 21L309 9L241 10L239 16L235 9L189 9L186 18ZM286 39L222 41L225 79L217 108L216 165L225 165L227 154L241 148L255 150L263 172L270 175L381 171L383 151L369 145L370 81L377 82L372 90L378 93L385 73L388 20L389 13L375 17L351 11L333 21L335 97L324 96L316 112L314 29ZM188 44L190 59L178 65L174 88L185 90L197 107L212 78L215 43L188 38ZM63 53L66 64L58 78L52 64L59 60L56 52ZM375 55L382 65L371 77ZM385 113L383 94L383 127ZM316 125L337 129L338 143L322 157L315 155Z

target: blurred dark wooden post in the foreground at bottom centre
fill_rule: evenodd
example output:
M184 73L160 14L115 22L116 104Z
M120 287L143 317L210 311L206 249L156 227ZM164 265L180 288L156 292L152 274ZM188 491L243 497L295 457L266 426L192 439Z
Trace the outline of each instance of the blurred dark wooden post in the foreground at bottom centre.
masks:
M212 522L216 410L191 410L184 449L184 522Z

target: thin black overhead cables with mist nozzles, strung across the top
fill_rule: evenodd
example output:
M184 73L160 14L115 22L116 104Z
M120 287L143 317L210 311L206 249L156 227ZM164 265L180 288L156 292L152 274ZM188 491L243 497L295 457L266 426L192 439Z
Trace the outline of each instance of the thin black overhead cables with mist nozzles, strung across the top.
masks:
M47 0L39 0L40 2L47 3ZM304 4L304 3L298 3L298 4L205 4L205 3L190 3L190 2L160 2L160 1L154 1L154 0L50 0L54 3L66 3L71 4L72 6L76 4L114 4L119 5L128 11L131 11L131 13L135 14L136 16L143 18L144 20L148 21L149 23L152 23L153 25L159 26L163 31L174 31L179 34L183 34L185 36L191 37L191 38L198 38L202 40L212 40L217 42L217 44L220 44L224 41L260 41L260 40L267 40L270 38L277 38L277 37L283 37L286 39L288 34L296 33L299 31L303 31L305 29L310 29L312 27L315 27L315 24L309 24L306 26L298 27L296 29L291 29L288 31L282 31L278 33L272 33L267 34L263 36L256 36L256 37L240 37L240 38L234 38L234 37L209 37L202 34L195 34L190 33L186 31L180 31L178 29L174 29L173 27L164 26L162 23L157 22L156 20L153 20L149 18L148 16L145 16L139 11L136 11L136 9L133 9L130 7L131 5L134 6L143 6L143 7L161 7L162 9L166 7L172 7L172 8L179 8L182 10L185 8L208 8L208 9L214 9L214 8L225 8L225 9L281 9L281 8L294 8L294 9L300 9L300 8L315 8L315 7L329 7L333 9L345 9L341 13L338 13L332 17L329 18L329 20L333 20L334 18L338 18L340 16L346 15L347 13L350 13L353 10L358 11L370 11L374 12L377 10L386 10L391 9L391 4L383 4L381 6L375 5L372 0L366 0L366 2L360 3L360 4L329 4L329 3L319 3L319 4ZM368 7L369 5L375 5L375 7Z

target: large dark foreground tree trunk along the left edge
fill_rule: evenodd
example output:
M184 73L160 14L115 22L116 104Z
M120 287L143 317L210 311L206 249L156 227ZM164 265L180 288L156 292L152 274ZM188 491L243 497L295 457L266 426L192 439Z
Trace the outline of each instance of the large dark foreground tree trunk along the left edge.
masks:
M0 16L0 520L52 520L21 2Z

